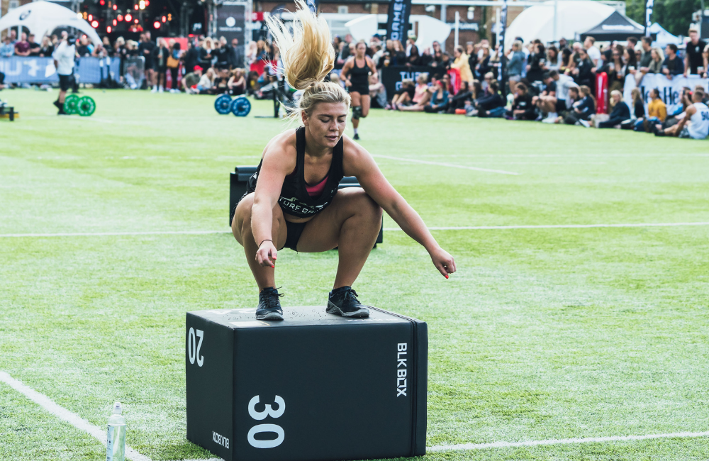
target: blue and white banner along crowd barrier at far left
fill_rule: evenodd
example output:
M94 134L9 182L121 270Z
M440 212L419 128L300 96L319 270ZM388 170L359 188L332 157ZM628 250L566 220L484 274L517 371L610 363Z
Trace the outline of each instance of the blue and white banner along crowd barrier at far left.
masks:
M5 83L50 84L59 82L51 57L12 56L0 58L0 72ZM74 65L80 83L101 83L109 74L114 80L121 75L121 60L113 57L82 57Z

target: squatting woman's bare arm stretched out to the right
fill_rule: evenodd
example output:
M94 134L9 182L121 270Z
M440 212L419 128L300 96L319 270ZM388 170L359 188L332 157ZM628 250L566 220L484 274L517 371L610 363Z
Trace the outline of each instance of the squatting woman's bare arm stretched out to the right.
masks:
M374 158L367 150L349 138L345 138L345 159L343 163L345 174L357 177L364 191L396 221L407 235L423 245L423 248L431 256L433 265L443 276L448 278L448 274L455 272L453 257L440 248L440 245L438 245L425 223L423 223L423 219L403 199L401 194L389 184L389 181L381 173L376 162L374 162Z

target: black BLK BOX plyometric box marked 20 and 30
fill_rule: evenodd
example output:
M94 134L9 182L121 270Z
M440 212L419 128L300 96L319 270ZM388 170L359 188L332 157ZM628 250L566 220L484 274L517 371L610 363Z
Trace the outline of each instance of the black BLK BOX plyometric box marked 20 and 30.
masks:
M325 306L188 312L187 439L226 461L425 455L428 327Z

